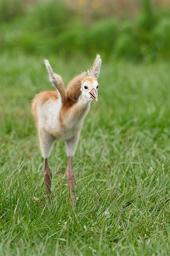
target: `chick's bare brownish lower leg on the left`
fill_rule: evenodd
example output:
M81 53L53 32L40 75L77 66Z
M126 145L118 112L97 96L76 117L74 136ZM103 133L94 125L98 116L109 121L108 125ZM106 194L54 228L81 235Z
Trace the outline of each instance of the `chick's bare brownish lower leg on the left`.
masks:
M51 194L52 172L48 166L47 158L44 159L43 175L44 175L44 183L46 186L47 195L49 197Z

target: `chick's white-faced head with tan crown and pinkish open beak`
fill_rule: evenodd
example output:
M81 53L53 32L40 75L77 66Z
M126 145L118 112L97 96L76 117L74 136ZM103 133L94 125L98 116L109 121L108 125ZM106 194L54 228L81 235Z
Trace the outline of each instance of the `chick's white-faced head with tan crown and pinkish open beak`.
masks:
M98 102L98 81L95 77L85 77L81 83L81 91L87 101Z

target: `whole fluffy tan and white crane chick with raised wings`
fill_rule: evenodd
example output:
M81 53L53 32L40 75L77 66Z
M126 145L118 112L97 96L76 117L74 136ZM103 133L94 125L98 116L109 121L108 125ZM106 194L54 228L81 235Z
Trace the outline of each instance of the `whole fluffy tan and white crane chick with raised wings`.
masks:
M101 65L99 55L97 55L97 59L99 63L96 77L99 75ZM45 159L43 173L46 190L47 194L51 193L52 173L47 158L50 155L54 140L64 140L68 155L66 176L72 204L74 204L75 178L72 172L72 157L75 154L83 120L89 111L90 103L93 99L98 100L98 82L95 77L85 76L87 73L84 72L73 78L65 90L62 78L53 73L47 60L45 60L45 65L49 72L50 81L52 81L57 91L47 90L38 93L32 101L32 114L38 130L41 152ZM94 65L91 73L93 69Z

